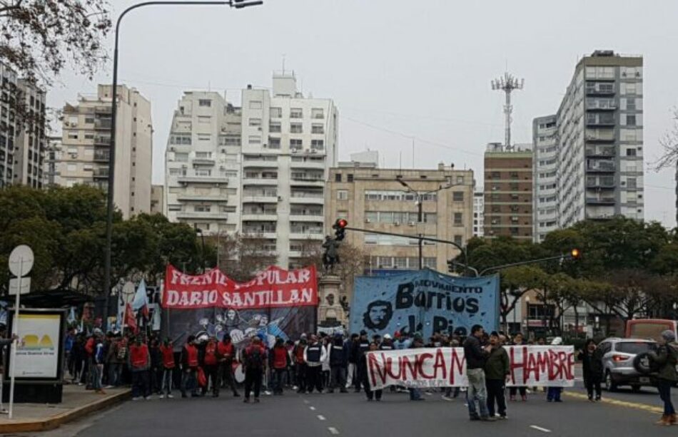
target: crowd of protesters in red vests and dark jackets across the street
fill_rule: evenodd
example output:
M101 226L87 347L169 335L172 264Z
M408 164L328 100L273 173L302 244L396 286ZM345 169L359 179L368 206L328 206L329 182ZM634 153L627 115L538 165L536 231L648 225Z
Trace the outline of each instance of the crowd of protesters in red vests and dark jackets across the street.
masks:
M662 334L659 350L653 360L660 364L657 371L659 392L664 401L664 415L660 424L677 423L670 396L670 387L678 380L675 366L678 349L671 346L675 341L671 331ZM133 399L150 399L152 394L159 398L173 398L173 390L180 391L186 398L206 396L218 397L221 389L228 388L233 396L239 397L234 371L241 364L244 374L243 401L260 401L262 390L265 394L283 395L285 389L297 393L356 393L365 392L368 401L381 401L383 390L372 390L368 384L366 352L391 349L418 349L440 346L462 346L465 352L468 387L442 387L427 389L440 391L442 399L457 398L466 391L466 401L472 421L495 421L507 418L505 399L506 382L510 376L510 362L502 346L537 344L545 345L543 338L524 342L522 334L512 339L503 332L486 333L480 325L472 327L470 335L436 333L424 341L418 334L393 336L373 335L368 338L366 331L351 334L302 334L298 341L275 339L267 344L265 336L254 336L246 347L236 348L228 334L221 340L213 337L188 336L186 342L178 345L171 340L161 341L158 336L126 334L103 334L94 329L89 336L69 331L66 339L66 357L69 373L75 384L86 385L96 393L104 389L131 384ZM556 337L551 344L561 344ZM270 346L270 347L269 347ZM588 399L601 400L603 378L602 354L593 340L588 340L580 352L582 370ZM390 391L407 392L411 401L423 401L422 389L389 388ZM527 395L538 393L539 389L512 386L508 389L509 401L527 401ZM545 387L546 400L562 402L562 387Z

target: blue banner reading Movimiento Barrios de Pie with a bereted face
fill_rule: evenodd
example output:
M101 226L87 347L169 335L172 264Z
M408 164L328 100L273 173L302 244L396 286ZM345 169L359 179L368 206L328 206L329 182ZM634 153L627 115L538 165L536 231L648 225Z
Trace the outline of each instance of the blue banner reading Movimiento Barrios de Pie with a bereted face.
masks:
M453 277L423 269L355 278L350 331L368 334L434 332L467 335L475 324L499 327L499 275Z

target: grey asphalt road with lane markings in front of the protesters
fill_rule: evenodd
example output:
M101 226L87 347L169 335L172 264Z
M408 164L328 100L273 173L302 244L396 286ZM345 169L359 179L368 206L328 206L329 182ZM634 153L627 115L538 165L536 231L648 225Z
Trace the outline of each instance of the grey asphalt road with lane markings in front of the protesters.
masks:
M507 421L468 420L465 401L443 401L440 393L410 402L407 394L385 393L382 402L359 394L262 396L258 404L218 399L128 401L112 410L40 436L676 436L678 426L654 426L656 391L603 392L613 401L589 403L581 389L568 389L563 403L543 394L509 404ZM674 399L678 401L678 391ZM678 402L677 402L678 404Z

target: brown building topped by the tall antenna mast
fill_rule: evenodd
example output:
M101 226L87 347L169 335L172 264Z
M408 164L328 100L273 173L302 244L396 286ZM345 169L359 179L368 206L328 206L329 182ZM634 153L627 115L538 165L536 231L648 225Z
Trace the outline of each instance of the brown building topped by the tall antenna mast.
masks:
M532 240L532 150L490 143L485 151L485 237Z

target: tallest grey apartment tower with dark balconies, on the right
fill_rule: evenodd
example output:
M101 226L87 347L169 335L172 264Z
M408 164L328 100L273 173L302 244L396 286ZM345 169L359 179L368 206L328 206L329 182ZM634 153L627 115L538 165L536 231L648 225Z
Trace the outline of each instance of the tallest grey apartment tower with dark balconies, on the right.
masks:
M556 115L558 227L643 219L642 61L594 51L577 63Z

